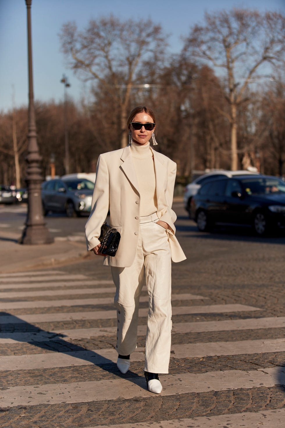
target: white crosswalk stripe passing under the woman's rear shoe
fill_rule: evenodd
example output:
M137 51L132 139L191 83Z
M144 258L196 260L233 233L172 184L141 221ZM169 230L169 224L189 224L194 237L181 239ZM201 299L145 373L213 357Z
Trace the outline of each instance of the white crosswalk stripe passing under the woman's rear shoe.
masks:
M236 342L206 342L172 345L171 357L194 358L213 355L262 354L285 351L285 339L258 339ZM47 369L53 367L107 364L117 361L113 348L91 351L51 352L47 354L9 355L0 357L0 370ZM132 361L144 361L144 348L132 353Z

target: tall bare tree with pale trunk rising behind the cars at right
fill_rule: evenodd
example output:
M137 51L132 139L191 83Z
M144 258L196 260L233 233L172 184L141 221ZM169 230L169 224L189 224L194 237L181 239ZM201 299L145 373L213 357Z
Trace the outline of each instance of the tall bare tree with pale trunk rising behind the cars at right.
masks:
M232 9L206 13L205 21L204 26L191 29L184 53L209 62L223 77L229 113L220 113L230 123L231 167L237 169L237 110L246 100L248 85L284 60L285 17L276 12ZM265 63L267 67L263 67Z

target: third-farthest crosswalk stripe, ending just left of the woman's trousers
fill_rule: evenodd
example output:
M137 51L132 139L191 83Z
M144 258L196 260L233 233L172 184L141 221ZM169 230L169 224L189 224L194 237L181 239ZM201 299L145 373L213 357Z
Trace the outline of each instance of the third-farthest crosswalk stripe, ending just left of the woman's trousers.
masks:
M59 279L59 278L57 278ZM103 285L103 284L113 284L114 282L107 279L82 279L81 281L69 281L68 279L65 279L64 276L62 276L61 281L53 281L53 282L29 282L27 284L26 282L15 282L15 283L9 283L4 284L0 283L0 290L12 290L12 289L21 289L21 288L44 288L44 287L53 287L53 288L59 288L59 287L84 287L85 285Z

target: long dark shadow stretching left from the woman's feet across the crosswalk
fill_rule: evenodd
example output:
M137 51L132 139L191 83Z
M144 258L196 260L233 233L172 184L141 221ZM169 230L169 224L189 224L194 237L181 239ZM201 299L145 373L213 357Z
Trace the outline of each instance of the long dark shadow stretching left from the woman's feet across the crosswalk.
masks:
M116 328L114 327L114 335L115 333ZM40 349L59 352L65 355L72 355L72 357L92 363L94 366L98 366L106 372L122 377L123 379L129 380L130 382L136 383L142 388L147 389L145 385L143 385L144 378L139 376L137 373L129 370L126 375L123 375L119 371L117 364L109 358L103 357L95 351L90 351L80 345L69 342L68 340L63 339L64 337L67 336L61 333L43 330L36 325L30 324L29 322L10 314L9 312L0 312L0 338L14 339L18 342L29 343L30 345L37 346ZM67 346L70 346L71 350L62 351L62 349ZM76 354L74 355L74 353Z

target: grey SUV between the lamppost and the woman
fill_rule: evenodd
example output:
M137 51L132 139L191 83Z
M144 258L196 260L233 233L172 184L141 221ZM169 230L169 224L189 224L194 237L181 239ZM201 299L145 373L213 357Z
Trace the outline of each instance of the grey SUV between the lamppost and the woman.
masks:
M94 183L85 178L45 181L41 190L44 215L53 211L76 217L90 212L93 189Z

